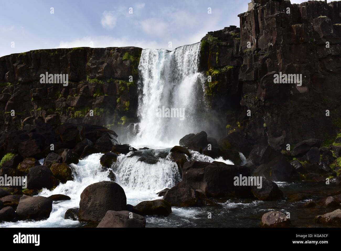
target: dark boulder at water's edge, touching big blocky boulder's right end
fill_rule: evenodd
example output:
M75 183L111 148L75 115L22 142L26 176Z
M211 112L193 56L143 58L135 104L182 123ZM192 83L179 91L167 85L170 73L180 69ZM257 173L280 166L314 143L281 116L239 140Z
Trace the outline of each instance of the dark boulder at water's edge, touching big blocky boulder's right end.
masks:
M283 192L275 182L262 179L262 187L252 186L252 194L259 200L283 199Z

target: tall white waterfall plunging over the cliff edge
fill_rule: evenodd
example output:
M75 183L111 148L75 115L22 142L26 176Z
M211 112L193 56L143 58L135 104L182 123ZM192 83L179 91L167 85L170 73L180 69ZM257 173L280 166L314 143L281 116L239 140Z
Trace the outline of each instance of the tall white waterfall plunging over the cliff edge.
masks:
M132 144L171 147L186 134L204 130L208 106L205 77L199 73L200 45L142 51L138 66L140 123ZM158 116L158 109L165 116ZM167 117L163 109L179 111L179 116Z

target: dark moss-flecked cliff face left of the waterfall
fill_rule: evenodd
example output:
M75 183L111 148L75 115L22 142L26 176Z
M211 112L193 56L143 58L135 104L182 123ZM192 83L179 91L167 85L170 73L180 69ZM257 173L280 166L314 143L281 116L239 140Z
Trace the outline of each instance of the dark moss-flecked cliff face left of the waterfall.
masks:
M0 130L20 125L30 130L41 122L52 126L69 122L125 128L127 125L122 124L126 119L136 120L141 51L137 47L81 47L0 57L0 83L5 83L0 87L0 108L18 112L15 117L1 114ZM68 74L68 85L40 83L40 74L46 72ZM130 76L133 82L129 82ZM35 145L27 141L22 149L39 154L42 149Z

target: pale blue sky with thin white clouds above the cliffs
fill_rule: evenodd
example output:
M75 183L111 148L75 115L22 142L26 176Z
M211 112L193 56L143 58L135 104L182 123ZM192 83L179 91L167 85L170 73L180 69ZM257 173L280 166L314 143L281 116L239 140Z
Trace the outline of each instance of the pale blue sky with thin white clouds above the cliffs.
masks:
M81 46L172 50L199 42L208 31L239 27L237 15L250 1L0 0L0 56Z

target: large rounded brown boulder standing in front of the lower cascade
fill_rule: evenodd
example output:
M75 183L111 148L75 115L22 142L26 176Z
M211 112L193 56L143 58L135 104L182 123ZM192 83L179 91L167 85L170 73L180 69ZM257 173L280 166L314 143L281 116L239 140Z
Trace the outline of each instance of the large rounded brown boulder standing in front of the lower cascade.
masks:
M127 207L123 188L111 181L87 186L80 195L79 221L99 223L108 210L122 211Z

